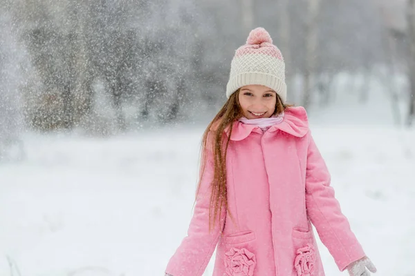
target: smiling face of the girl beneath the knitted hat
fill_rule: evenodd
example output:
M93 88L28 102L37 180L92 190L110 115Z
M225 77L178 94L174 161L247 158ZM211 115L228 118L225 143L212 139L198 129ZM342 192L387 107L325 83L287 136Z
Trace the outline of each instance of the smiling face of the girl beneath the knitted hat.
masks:
M277 93L269 87L251 84L241 87L238 99L247 119L269 118L275 111Z

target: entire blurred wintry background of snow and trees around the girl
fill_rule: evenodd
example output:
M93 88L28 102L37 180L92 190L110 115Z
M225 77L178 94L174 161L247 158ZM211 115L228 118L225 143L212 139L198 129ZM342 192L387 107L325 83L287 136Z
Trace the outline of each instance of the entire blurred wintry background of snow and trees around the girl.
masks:
M258 26L378 275L415 275L415 0L0 0L0 275L164 275Z

